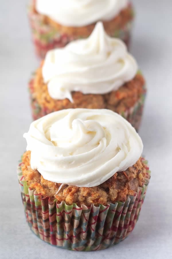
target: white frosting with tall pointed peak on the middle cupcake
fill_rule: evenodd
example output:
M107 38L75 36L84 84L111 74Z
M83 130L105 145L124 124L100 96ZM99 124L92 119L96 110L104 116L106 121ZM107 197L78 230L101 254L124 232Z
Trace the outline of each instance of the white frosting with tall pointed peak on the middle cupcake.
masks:
M68 98L73 102L72 91L106 94L133 79L137 70L126 45L109 37L99 22L89 38L49 51L42 76L53 99Z

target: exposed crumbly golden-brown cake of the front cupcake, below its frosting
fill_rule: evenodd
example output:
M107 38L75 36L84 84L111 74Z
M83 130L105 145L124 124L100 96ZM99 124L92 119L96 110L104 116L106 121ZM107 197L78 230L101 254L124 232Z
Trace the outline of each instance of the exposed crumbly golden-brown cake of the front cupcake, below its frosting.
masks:
M116 201L125 202L128 195L134 195L138 187L143 185L146 167L142 163L142 158L126 171L117 172L110 179L95 187L77 187L61 183L54 183L45 180L38 170L30 167L30 151L24 153L22 157L21 170L28 186L36 189L43 197L57 199L57 202L65 201L67 205L76 203L86 206L107 205ZM61 188L60 188L61 186ZM58 191L58 189L60 190Z

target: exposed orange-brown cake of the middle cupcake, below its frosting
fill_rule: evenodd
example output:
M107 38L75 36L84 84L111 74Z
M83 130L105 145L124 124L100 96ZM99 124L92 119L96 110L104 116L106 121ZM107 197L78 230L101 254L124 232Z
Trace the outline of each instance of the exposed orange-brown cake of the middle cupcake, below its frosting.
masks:
M48 86L42 77L42 66L43 62L34 77L32 100L36 100L43 110L48 110L47 113L68 108L88 108L110 109L121 114L133 107L145 94L144 78L141 74L136 74L132 80L124 83L118 90L107 94L72 92L73 103L67 98L56 100L51 98L48 93Z

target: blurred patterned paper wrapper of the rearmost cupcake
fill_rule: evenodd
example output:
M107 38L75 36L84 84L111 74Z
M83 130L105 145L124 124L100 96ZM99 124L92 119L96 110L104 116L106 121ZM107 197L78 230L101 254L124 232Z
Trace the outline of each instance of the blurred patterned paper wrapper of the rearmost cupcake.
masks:
M61 33L50 24L45 24L44 16L36 14L33 11L33 5L28 8L28 17L31 26L32 39L35 46L35 51L38 57L44 58L46 52L57 47L64 47L70 41L80 39L82 37L76 35L68 35ZM130 43L130 34L132 31L133 22L130 21L120 30L114 31L112 37L122 39L128 46ZM89 32L88 32L89 35Z

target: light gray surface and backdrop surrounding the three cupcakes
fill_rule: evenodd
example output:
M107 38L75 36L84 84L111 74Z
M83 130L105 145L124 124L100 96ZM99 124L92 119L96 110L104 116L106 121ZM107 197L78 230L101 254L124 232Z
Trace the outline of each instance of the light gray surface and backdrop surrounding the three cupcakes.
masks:
M27 1L1 2L0 258L172 258L172 1L133 1L137 17L131 52L148 87L140 136L152 171L142 212L126 240L89 253L52 247L26 223L16 166L31 123L27 82L39 60L30 40Z

